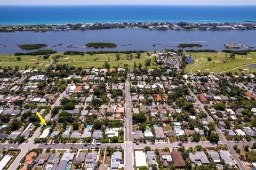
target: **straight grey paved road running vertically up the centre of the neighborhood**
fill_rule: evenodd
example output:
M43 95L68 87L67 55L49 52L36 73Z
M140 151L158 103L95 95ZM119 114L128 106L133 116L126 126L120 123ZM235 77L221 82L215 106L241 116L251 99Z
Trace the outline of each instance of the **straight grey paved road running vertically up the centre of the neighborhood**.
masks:
M129 76L127 76L129 77ZM133 143L132 143L132 114L131 114L131 94L128 78L125 82L125 143L124 143L124 163L126 170L133 170Z

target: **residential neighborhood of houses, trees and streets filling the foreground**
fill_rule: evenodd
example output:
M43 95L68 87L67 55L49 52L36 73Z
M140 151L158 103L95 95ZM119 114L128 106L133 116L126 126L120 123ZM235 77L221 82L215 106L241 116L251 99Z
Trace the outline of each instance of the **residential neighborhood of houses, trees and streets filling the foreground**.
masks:
M255 74L155 56L161 69L2 68L0 169L255 169Z

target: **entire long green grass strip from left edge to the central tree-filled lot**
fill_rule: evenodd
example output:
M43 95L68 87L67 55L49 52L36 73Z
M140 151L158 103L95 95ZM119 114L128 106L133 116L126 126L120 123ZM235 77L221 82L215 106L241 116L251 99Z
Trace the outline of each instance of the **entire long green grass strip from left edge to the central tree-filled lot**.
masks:
M0 55L0 66L4 67L11 67L15 68L15 66L19 66L19 69L24 69L25 66L29 66L31 69L33 66L35 68L45 68L49 66L51 63L51 58L56 55L63 55L62 53L56 53L50 56L49 59L44 60L43 56L27 56L22 55L21 61L17 61L17 56L14 55ZM58 63L55 64L64 64L67 63L69 66L75 67L82 67L82 68L100 68L103 66L105 61L108 61L110 67L118 66L123 67L124 64L128 64L129 68L133 68L134 62L136 62L137 66L139 63L145 67L145 60L147 58L153 59L152 56L148 56L147 53L141 53L140 59L135 58L135 54L133 54L132 60L126 59L126 54L121 54L120 60L116 61L115 54L95 54L89 55L85 54L84 56L81 55L63 55L64 57L58 59ZM156 68L157 66L154 64L153 60L151 60L151 65L148 68Z

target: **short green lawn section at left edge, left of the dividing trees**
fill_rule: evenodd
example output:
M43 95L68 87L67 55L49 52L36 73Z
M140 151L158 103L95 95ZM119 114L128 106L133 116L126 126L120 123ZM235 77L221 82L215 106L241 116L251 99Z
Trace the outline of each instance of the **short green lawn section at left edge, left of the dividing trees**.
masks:
M21 61L17 61L17 56L14 55L0 55L0 66L2 68L8 68L9 66L11 68L15 68L15 66L18 66L19 69L25 69L25 66L29 66L30 69L35 66L35 68L44 68L50 59L43 59L43 56L31 56L31 55L22 55Z

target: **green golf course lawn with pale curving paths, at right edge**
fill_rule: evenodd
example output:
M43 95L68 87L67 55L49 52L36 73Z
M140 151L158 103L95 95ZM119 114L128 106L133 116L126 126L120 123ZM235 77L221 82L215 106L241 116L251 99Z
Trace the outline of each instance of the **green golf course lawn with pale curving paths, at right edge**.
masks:
M193 64L187 64L185 72L187 74L197 74L197 72L209 72L211 74L223 74L226 72L253 72L256 68L249 68L248 64L256 64L256 52L246 55L237 55L235 59L229 58L229 53L186 53L194 60ZM211 58L211 61L207 61Z

